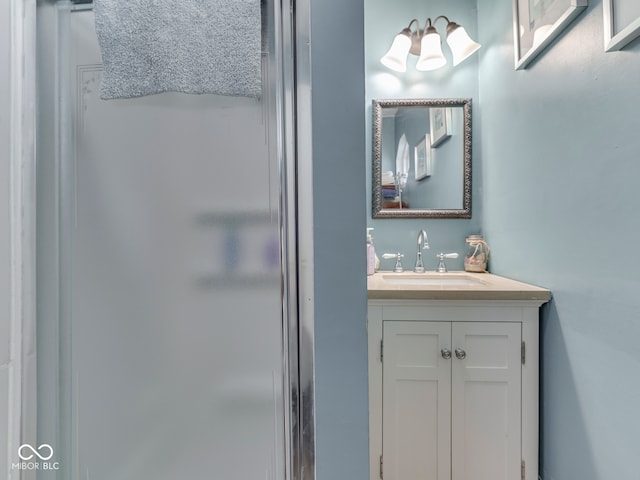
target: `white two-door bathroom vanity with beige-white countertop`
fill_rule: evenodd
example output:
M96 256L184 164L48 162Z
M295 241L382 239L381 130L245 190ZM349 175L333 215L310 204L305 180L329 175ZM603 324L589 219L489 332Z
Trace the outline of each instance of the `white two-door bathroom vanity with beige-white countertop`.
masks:
M370 478L538 478L543 288L488 273L368 277Z

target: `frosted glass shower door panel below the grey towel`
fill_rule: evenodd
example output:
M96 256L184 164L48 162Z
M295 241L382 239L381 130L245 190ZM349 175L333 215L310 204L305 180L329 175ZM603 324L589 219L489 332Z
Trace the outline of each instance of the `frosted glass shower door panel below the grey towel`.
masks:
M103 101L71 43L72 478L283 478L273 87Z

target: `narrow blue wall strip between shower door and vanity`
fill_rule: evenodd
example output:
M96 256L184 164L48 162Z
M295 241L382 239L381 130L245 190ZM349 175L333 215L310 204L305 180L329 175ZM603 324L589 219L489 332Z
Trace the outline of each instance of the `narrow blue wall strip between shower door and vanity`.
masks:
M362 0L311 0L319 480L369 478L363 39Z

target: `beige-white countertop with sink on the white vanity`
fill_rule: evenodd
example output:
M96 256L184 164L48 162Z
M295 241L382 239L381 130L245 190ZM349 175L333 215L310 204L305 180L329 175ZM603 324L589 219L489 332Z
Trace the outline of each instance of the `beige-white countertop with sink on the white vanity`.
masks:
M397 300L539 300L551 292L491 273L380 271L367 277L369 299Z

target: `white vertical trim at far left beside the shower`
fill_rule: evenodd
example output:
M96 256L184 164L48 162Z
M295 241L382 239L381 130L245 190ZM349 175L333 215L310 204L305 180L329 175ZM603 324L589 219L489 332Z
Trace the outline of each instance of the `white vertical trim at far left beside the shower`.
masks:
M10 73L10 227L11 306L9 357L8 478L25 478L18 462L23 433L26 385L24 332L35 312L35 0L11 0ZM30 341L29 344L35 344Z

